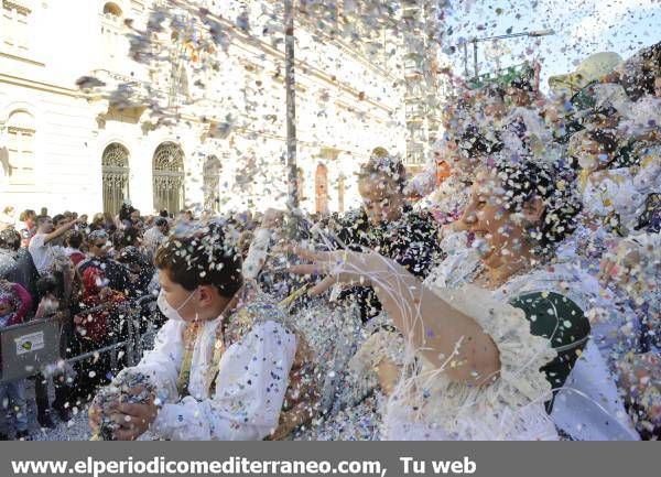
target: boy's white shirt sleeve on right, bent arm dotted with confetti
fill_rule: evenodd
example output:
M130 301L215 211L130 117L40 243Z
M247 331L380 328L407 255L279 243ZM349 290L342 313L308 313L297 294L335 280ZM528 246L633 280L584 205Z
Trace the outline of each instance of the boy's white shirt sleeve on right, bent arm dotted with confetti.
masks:
M281 324L254 326L223 355L213 398L165 404L152 432L173 441L264 438L278 426L295 351Z

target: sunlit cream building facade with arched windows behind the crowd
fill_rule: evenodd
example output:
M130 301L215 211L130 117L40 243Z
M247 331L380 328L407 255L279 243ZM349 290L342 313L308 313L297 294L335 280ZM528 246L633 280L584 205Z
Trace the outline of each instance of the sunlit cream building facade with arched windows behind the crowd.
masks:
M3 206L284 206L282 2L0 3ZM296 21L299 198L311 213L358 205L354 174L375 147L407 154L401 11L347 3L308 1Z

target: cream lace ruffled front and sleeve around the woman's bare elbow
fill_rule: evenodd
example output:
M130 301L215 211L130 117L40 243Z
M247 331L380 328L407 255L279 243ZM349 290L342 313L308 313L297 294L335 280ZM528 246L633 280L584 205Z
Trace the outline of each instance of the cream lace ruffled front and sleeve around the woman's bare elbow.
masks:
M473 285L435 290L453 307L473 316L500 355L500 376L489 386L453 382L421 358L421 371L404 379L388 401L384 440L557 440L544 409L551 384L540 371L556 356L548 339L533 336L523 311ZM449 359L448 359L449 361Z

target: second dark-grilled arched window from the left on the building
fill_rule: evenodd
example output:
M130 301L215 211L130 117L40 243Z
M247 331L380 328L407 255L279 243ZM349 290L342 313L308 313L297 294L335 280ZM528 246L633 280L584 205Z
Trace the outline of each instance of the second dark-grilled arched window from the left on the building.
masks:
M184 208L184 151L174 142L156 148L153 158L154 208L177 213Z

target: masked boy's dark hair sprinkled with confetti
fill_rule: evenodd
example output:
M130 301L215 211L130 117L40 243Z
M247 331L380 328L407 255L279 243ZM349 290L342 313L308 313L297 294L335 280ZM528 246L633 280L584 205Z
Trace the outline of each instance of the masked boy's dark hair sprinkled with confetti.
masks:
M214 285L225 297L243 284L241 257L218 224L208 224L186 236L170 237L154 257L159 270L188 291Z

